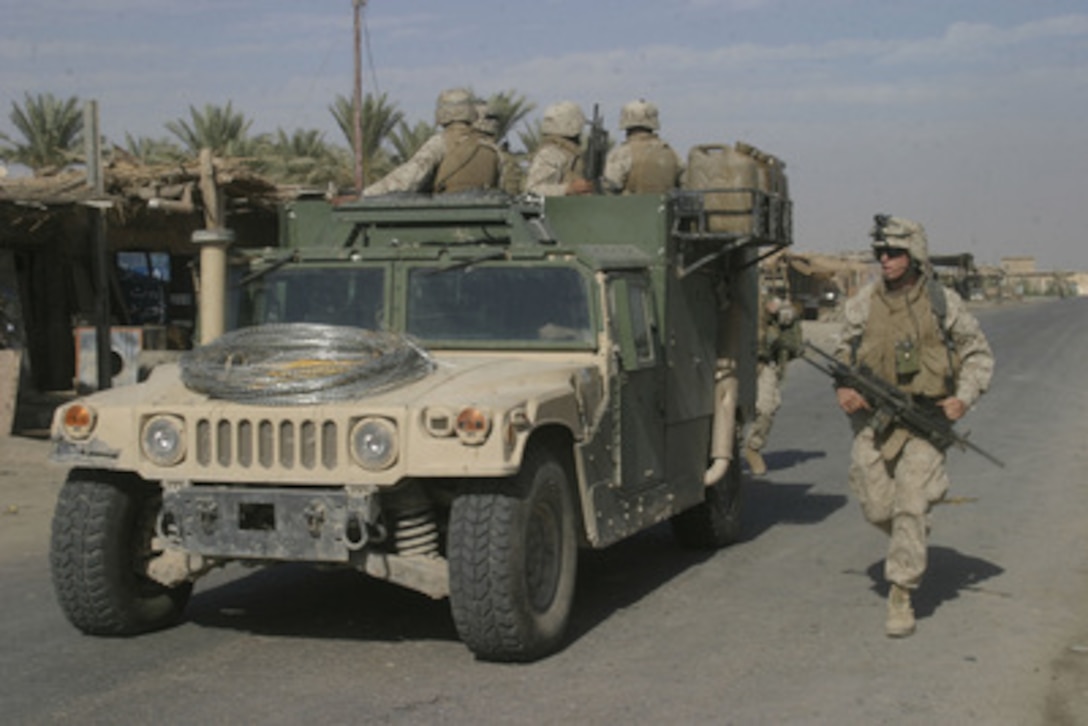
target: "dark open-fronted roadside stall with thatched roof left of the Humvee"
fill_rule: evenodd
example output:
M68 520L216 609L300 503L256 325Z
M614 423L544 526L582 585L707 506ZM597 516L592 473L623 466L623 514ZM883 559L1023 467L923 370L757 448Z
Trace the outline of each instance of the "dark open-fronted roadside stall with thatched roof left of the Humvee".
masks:
M96 347L86 345L86 335L95 329L102 295L109 299L114 371L138 367L145 352L193 344L199 250L191 239L208 226L201 188L217 195L217 213L225 217L237 247L274 243L284 197L230 161L212 160L210 169L201 184L196 160L156 168L114 159L104 170L102 196L82 169L0 179L0 348L21 358L21 393L86 384L81 369ZM104 216L104 291L95 264L98 210ZM97 370L97 360L91 362Z

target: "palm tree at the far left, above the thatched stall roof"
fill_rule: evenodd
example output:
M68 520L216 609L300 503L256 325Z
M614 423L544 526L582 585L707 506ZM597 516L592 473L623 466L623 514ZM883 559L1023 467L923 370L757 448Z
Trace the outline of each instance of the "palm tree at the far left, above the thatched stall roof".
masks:
M54 98L52 94L23 95L22 108L12 101L8 116L23 136L18 143L0 133L0 159L23 164L35 175L53 173L81 157L83 112L79 99Z

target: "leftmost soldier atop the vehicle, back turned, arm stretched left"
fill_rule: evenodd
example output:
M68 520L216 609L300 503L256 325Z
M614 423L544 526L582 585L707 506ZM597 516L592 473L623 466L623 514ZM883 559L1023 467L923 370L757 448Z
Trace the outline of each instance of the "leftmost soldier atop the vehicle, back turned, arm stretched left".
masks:
M473 130L477 118L475 103L468 90L442 91L434 109L434 122L442 131L429 138L411 159L364 188L362 196L498 188L502 183L498 147Z

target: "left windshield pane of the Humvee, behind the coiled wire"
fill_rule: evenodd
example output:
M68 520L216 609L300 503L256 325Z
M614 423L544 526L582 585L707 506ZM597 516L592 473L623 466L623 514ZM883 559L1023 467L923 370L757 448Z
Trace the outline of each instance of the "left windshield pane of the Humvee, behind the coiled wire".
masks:
M242 287L238 327L317 322L380 330L384 299L384 268L284 267Z

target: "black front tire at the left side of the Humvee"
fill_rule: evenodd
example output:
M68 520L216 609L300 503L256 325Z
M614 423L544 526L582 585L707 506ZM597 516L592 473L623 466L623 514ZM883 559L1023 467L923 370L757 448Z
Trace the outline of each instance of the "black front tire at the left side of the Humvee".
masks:
M135 475L75 469L61 488L49 553L61 610L79 630L128 636L176 623L193 583L168 588L143 575L162 505Z

